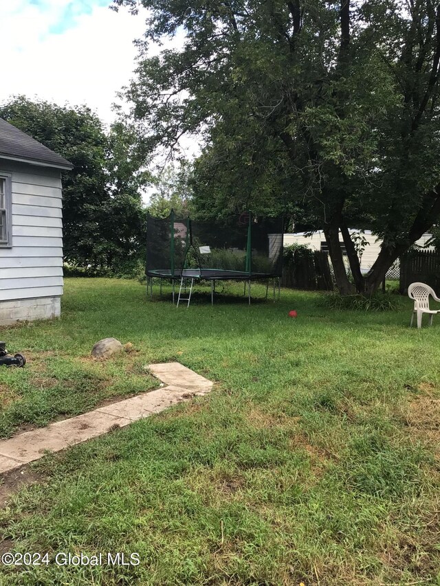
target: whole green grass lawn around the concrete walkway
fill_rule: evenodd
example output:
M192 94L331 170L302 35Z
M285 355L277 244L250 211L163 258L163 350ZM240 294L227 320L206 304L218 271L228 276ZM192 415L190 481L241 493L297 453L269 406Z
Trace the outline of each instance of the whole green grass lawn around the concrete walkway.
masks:
M47 455L1 512L3 550L136 552L139 565L3 567L0 583L440 585L440 320L410 330L409 300L389 313L319 300L187 310L135 282L72 279L61 320L3 330L31 357L0 370L3 435L152 388L149 362L217 385ZM107 336L134 351L91 362Z

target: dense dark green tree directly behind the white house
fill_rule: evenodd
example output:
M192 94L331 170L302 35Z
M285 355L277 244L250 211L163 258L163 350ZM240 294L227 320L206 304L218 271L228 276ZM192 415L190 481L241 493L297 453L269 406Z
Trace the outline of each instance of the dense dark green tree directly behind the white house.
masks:
M118 270L143 258L140 188L146 176L135 156L135 132L122 122L104 131L87 106L58 106L16 96L4 118L72 162L63 172L63 243L67 262Z

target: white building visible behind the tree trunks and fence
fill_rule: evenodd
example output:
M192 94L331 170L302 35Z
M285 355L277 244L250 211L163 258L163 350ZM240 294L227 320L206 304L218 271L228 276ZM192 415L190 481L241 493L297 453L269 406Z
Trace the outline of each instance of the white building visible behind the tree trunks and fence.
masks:
M360 230L355 230L355 229L351 229L350 233L360 233ZM311 250L322 250L322 251L328 251L328 247L327 247L327 242L325 240L325 236L323 232L314 232L314 234L312 234L311 236L306 236L306 232L298 232L297 234L285 234L284 235L284 246L288 246L289 244L303 244L303 245L307 245ZM361 257L361 262L360 262L360 269L362 271L362 273L368 273L368 271L371 269L371 267L373 266L377 255L380 253L380 245L382 243L382 240L380 240L379 238L377 238L377 236L374 236L373 234L371 234L371 231L369 230L365 230L364 233L362 233L362 236L365 238L365 240L368 242L368 245L366 245L363 253L362 253L362 257ZM431 234L423 234L423 236L417 240L416 245L418 246L424 246L426 245L426 243L428 242L428 240L431 238ZM340 236L340 242L342 243L342 236ZM428 249L430 249L432 247L429 247ZM345 247L342 243L342 251L345 250Z

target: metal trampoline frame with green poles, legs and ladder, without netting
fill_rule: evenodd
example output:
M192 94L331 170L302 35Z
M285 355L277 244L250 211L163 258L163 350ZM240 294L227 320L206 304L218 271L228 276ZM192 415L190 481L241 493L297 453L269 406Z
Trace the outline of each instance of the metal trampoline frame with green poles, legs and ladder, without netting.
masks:
M269 283L272 279L273 282L273 291L274 291L274 302L276 300L276 281L278 281L278 300L280 298L281 292L281 272L283 269L283 254L281 253L281 264L278 273L253 273L251 270L252 267L252 212L246 212L248 214L248 238L247 238L247 246L246 246L246 257L245 257L245 271L234 271L228 269L202 269L200 267L199 255L195 246L192 244L192 235L190 231L190 218L187 218L188 221L188 234L189 234L189 241L186 242L186 251L184 256L184 263L182 269L175 269L175 243L174 238L170 240L170 269L148 269L148 262L146 268L146 295L148 296L148 292L150 293L150 300L153 300L153 278L160 279L160 295L162 297L162 282L163 280L170 281L172 286L172 295L173 295L173 304L175 304L175 282L189 279L189 280L207 280L211 282L211 305L214 305L214 294L215 294L215 284L217 281L243 281L244 282L244 295L246 293L246 283L248 283L248 304L251 304L251 281L256 280L266 280L266 294L265 299L267 300L267 295L269 291ZM149 214L148 214L149 215ZM170 212L170 223L171 223L171 233L174 233L174 221L175 221L175 214L174 210ZM148 232L148 231L147 231ZM188 236L187 236L188 238ZM284 231L281 231L281 251L283 251L283 238L284 238ZM195 251L195 256L197 258L197 262L199 262L199 267L197 269L186 269L186 258L188 256L188 252L190 249ZM147 256L148 256L148 234L147 234ZM168 274L169 273L169 274ZM186 284L185 284L185 291L186 291Z

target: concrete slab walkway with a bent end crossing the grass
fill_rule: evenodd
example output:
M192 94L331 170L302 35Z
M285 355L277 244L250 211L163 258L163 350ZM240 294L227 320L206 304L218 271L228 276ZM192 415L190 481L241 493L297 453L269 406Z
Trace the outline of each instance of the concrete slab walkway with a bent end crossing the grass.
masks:
M159 413L193 396L210 392L212 382L178 362L150 364L154 376L166 386L155 391L111 403L47 427L26 431L10 440L0 441L0 473L43 458L45 452L58 452L103 433L130 425L137 419Z

